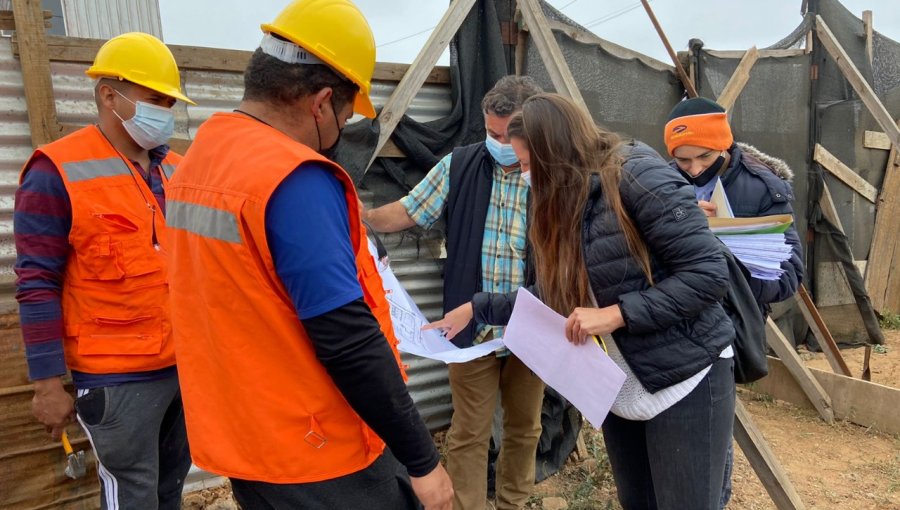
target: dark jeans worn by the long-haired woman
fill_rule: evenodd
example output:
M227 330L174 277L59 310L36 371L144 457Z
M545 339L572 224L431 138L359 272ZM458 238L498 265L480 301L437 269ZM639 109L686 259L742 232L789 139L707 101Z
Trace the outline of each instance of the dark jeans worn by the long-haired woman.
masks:
M734 424L734 361L719 359L684 399L648 421L603 423L624 510L717 510Z

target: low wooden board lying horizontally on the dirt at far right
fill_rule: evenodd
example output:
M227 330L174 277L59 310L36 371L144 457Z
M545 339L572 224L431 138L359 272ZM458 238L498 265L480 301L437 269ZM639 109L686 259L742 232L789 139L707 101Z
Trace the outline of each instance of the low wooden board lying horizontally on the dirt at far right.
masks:
M887 434L900 434L900 389L825 370L809 369L831 395L834 416ZM781 360L769 357L769 375L747 386L791 404L809 408L809 400Z

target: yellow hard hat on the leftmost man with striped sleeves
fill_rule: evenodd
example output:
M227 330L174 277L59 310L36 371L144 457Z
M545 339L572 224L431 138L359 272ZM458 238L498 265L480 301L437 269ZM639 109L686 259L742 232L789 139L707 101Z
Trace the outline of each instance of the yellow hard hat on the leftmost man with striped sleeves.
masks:
M143 32L129 32L106 41L85 74L119 78L160 94L197 104L181 92L178 64L162 41Z

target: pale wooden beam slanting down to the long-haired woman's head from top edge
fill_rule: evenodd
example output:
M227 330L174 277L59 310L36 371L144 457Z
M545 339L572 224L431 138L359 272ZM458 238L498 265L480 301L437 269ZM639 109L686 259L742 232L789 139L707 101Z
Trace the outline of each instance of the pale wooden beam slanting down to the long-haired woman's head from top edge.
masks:
M538 0L519 0L519 9L522 11L522 18L528 25L531 39L544 61L544 67L550 74L550 81L553 82L556 92L569 97L578 106L584 108L584 111L590 112L587 103L581 96L581 91L578 90L571 70L566 64L562 50L559 49L559 44L553 37L553 31L550 29L547 18L544 17L544 11L541 10Z

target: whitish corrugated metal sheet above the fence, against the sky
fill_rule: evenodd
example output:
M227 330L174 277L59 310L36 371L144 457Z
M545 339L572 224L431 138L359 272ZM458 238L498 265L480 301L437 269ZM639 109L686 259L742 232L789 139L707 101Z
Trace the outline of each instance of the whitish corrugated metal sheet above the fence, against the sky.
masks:
M109 39L146 32L162 39L157 0L63 0L66 35Z

